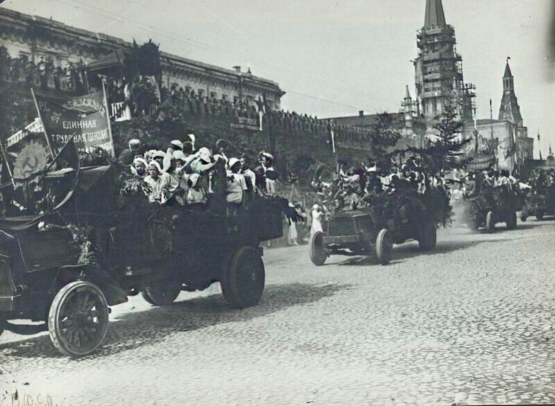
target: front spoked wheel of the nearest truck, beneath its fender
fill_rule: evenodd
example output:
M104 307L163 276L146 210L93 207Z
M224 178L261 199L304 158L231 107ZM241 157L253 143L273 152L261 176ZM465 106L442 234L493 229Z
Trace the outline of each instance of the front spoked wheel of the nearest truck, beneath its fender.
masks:
M62 354L77 358L96 350L108 328L108 303L100 288L85 281L65 285L50 306L48 328Z

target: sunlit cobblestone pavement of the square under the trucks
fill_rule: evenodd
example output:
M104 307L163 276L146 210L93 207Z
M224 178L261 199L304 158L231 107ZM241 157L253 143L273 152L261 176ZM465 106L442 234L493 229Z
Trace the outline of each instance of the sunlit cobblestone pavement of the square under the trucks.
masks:
M555 220L454 227L388 266L267 250L255 308L231 310L218 285L167 308L133 297L80 360L4 333L0 404L555 403L554 250Z

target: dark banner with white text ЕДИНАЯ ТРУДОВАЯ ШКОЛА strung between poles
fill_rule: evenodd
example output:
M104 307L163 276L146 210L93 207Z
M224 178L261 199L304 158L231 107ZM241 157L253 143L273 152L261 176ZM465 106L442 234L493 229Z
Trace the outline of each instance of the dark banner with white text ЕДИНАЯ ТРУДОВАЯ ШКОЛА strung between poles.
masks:
M91 152L95 147L112 153L112 137L102 91L85 96L53 98L36 95L44 130L54 153L74 137L78 150Z

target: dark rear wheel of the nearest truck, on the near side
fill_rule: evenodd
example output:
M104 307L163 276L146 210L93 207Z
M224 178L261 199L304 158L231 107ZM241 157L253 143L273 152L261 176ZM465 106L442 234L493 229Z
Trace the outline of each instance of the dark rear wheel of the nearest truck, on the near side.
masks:
M264 263L258 250L241 247L224 268L221 280L223 297L234 308L255 306L264 291L265 279Z

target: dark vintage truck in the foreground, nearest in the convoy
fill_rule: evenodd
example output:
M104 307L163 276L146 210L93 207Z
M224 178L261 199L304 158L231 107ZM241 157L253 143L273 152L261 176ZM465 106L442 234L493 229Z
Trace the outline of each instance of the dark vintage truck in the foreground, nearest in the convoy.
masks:
M0 333L48 330L61 353L82 357L103 341L110 306L139 292L164 306L182 290L219 281L234 308L258 303L265 280L259 243L281 236L287 200L258 197L233 215L225 207L156 207L140 194L121 199L117 166L77 171L44 177L50 190L70 189L55 211L0 219Z

